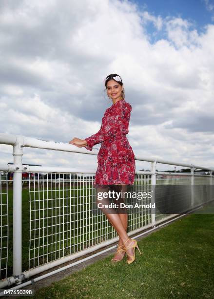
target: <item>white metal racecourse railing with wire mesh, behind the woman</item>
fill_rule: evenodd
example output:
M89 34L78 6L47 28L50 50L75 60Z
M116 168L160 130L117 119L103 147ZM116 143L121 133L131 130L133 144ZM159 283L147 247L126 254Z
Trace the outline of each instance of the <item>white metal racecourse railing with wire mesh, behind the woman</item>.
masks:
M104 214L91 213L95 206L96 190L93 188L94 170L79 170L74 168L55 168L30 166L22 164L24 147L79 152L97 155L97 150L89 152L86 149L28 138L20 135L0 133L0 143L13 146L14 164L0 165L0 275L7 277L8 262L8 209L11 211L12 201L8 204L8 180L3 173L13 172L13 273L8 279L0 281L0 288L11 284L19 284L22 280L42 271L55 267L86 253L93 252L117 241L114 228ZM152 163L151 171L136 171L134 185L131 190L149 192L154 190L152 203L160 203L168 208L168 202L161 193L156 194L154 186L186 185L191 186L186 192L183 202L184 211L195 208L213 199L212 188L204 196L200 189L195 192L194 185L209 185L213 187L213 169L166 161L157 158L135 157L139 161ZM191 168L190 173L158 172L157 163L171 164ZM209 175L198 175L195 169L207 170ZM28 172L29 178L22 180L22 172ZM31 176L30 174L34 174ZM72 174L76 176L73 177ZM59 178L56 176L59 175ZM62 175L63 177L60 177ZM28 182L27 199L22 200L22 184ZM179 191L180 192L180 191ZM207 194L207 193L206 193ZM11 195L10 195L11 196ZM10 197L9 196L9 197ZM171 199L170 199L171 200ZM23 204L24 206L23 206ZM29 207L28 207L29 206ZM24 235L29 244L28 267L22 270L22 211L29 216L26 225L29 226L28 236ZM176 214L161 213L158 210L139 209L137 213L129 211L128 234L133 235Z

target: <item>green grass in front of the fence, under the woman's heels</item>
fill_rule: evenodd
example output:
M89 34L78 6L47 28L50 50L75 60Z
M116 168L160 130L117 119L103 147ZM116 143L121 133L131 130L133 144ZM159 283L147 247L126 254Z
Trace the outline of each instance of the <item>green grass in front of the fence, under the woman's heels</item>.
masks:
M133 264L106 257L34 298L214 298L214 214L188 215L138 244Z

